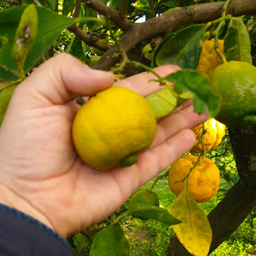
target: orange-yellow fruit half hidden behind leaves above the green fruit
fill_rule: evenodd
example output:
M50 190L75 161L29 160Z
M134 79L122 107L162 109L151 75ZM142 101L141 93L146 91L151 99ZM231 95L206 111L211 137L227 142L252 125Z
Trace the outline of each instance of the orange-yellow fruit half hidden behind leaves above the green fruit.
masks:
M214 44L214 38L202 42L202 52L197 68L198 71L208 74L208 76L222 63L220 56L214 50ZM218 39L218 49L224 55L224 41L222 39Z

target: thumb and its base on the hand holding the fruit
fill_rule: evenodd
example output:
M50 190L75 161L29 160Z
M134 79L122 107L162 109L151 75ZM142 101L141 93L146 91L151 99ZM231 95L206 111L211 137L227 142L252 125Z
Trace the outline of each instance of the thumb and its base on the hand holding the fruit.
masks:
M60 105L74 95L94 95L113 82L112 73L93 70L69 54L59 54L18 85L10 105L18 105L22 110Z

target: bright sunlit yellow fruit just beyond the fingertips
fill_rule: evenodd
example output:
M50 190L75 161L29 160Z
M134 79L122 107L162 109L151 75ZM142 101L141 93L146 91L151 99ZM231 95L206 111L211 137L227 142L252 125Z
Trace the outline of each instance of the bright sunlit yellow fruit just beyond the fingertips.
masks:
M202 125L203 124L199 124L199 126L196 126L192 129L194 134L198 135L196 136L196 143L194 143L193 148L190 150L191 152L202 151L202 145L200 143L200 138L202 136ZM217 146L220 145L220 142L222 142L222 138L225 136L225 124L218 122L214 118L210 118L204 122L204 129L204 150L209 151L217 148Z

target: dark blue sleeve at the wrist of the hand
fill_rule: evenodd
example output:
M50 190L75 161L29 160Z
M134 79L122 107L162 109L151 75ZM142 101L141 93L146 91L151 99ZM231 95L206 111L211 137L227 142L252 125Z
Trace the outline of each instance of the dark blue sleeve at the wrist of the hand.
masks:
M0 204L0 256L74 256L57 233L34 218Z

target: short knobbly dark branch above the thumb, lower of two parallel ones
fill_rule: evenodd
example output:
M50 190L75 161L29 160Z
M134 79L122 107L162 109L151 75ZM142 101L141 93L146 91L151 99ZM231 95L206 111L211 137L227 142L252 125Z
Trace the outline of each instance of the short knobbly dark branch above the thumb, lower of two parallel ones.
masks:
M87 46L94 46L97 49L103 50L104 52L106 52L109 49L109 47L106 46L106 44L102 44L98 41L97 34L86 34L84 33L84 31L81 30L81 28L78 28L78 26L76 25L70 26L68 30L76 34L76 36L78 36L78 38L84 41L87 44Z

